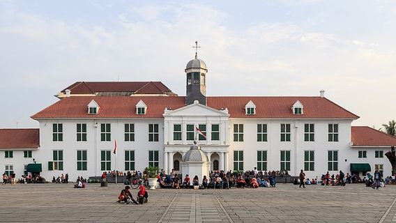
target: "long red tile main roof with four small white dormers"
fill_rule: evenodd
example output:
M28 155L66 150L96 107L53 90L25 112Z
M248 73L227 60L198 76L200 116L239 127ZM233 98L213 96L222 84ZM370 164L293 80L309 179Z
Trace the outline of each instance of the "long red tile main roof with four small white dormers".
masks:
M230 118L339 118L356 119L355 114L348 112L326 98L320 97L207 97L208 107L226 108ZM100 106L99 114L87 114L87 105L95 100ZM139 100L146 103L145 115L136 114ZM245 115L245 105L252 100L256 105L257 114ZM300 100L304 105L304 114L294 115L291 106ZM185 97L164 96L118 96L95 97L82 96L63 98L50 107L31 116L37 118L163 118L165 108L178 109L185 106Z

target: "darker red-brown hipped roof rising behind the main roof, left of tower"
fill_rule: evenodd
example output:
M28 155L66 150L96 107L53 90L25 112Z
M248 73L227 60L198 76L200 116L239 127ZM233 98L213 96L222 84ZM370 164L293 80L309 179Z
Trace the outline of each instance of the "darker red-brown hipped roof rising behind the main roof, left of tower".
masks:
M149 94L172 92L162 82L75 82L66 89L69 89L71 94L89 94L98 92L135 92L142 91L145 87L148 87L148 89L144 92ZM66 89L61 92L65 93ZM149 91L150 89L154 91Z

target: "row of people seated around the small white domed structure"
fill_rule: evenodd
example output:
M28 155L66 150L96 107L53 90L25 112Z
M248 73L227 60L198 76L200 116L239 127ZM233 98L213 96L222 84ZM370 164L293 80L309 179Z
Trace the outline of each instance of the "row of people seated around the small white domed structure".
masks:
M269 171L266 173L266 176L264 176L264 173L261 171L256 173L254 173L254 171L246 171L245 173L234 173L232 171L227 171L224 173L224 171L211 171L211 173L208 175L209 177L204 176L202 180L199 180L198 176L194 176L194 178L191 180L188 174L186 174L184 178L178 174L162 174L162 176L159 174L157 178L160 187L170 185L170 187L175 189L192 188L194 186L198 187L199 189L229 189L234 187L275 187L275 174L275 171Z

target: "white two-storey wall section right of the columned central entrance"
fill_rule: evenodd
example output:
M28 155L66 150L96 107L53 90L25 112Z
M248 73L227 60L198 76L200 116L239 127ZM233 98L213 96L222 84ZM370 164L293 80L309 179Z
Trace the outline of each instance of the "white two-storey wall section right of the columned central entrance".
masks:
M268 141L257 141L257 124L267 125ZM338 141L328 141L328 124L338 124ZM243 124L243 141L233 141L234 124ZM280 125L291 125L291 141L280 141ZM304 125L314 124L314 141L304 141ZM351 121L333 120L271 120L261 118L230 118L230 167L234 151L243 151L244 169L257 167L257 151L267 151L267 169L280 170L280 151L291 151L289 174L297 176L304 169L304 151L314 151L314 171L305 171L307 178L320 177L328 169L328 151L338 151L338 169L349 172ZM337 174L338 171L330 171Z

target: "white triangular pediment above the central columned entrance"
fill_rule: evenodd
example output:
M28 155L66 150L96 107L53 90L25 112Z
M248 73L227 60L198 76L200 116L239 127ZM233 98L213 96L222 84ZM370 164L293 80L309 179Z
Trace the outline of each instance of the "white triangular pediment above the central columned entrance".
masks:
M207 107L198 103L165 112L164 116L229 116L226 112Z

